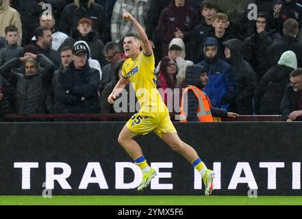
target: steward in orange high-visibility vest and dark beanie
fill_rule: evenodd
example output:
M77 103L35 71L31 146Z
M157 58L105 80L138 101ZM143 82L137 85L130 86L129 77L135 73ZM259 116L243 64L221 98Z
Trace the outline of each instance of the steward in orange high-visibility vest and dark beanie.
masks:
M207 85L207 70L199 65L186 68L187 87L181 98L181 123L213 122L212 116L236 118L238 114L211 106L203 88Z

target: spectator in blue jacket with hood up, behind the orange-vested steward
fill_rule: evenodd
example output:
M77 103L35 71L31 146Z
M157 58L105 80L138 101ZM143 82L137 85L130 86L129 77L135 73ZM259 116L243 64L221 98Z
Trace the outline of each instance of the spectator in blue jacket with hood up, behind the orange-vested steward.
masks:
M233 69L219 57L219 44L216 38L208 37L203 42L205 60L199 65L207 68L208 82L205 92L211 100L212 107L228 109L236 99L236 79Z

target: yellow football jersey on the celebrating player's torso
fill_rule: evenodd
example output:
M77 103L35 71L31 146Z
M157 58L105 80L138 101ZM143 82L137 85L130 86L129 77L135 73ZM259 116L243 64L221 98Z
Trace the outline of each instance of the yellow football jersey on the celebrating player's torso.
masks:
M160 111L166 111L164 109L166 105L156 88L154 72L154 55L146 56L142 51L136 57L136 60L129 58L123 64L122 75L124 78L129 79L136 92L136 98L141 107L140 112L150 110L151 107L156 107L158 110L162 109Z

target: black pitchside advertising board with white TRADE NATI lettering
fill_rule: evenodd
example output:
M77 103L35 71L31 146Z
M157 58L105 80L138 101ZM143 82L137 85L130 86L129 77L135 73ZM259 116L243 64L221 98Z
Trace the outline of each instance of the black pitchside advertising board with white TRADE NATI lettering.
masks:
M138 137L158 169L151 188L121 146L124 123L0 123L0 195L199 195L201 178L154 133ZM215 195L302 195L301 123L175 123L216 171Z

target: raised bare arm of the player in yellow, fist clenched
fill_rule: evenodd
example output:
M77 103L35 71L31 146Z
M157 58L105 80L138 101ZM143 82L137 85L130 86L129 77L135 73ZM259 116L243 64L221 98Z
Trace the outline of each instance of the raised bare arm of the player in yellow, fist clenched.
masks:
M138 23L138 21L136 21L136 18L134 18L129 12L125 12L123 14L123 19L127 20L127 21L131 21L134 24L136 32L141 40L141 46L142 46L142 51L143 51L144 55L147 55L147 56L152 55L152 53L153 53L152 45L149 42L148 36L147 36L146 32L144 31L144 28L142 28L140 23Z

